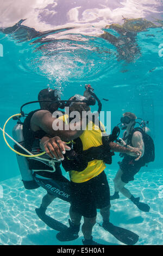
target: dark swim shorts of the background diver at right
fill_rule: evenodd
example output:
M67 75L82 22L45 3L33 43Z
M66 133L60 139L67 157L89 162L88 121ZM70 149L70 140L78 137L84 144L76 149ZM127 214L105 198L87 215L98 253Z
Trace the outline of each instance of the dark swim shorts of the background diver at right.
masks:
M124 156L122 162L118 162L118 164L123 172L121 180L124 183L134 180L134 175L139 172L142 166L145 166L145 162L142 158L135 161L135 157L129 155Z

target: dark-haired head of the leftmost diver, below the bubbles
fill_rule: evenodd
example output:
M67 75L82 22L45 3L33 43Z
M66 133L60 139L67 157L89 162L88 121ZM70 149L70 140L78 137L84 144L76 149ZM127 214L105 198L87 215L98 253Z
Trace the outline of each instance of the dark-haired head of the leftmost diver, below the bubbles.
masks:
M52 113L56 111L60 105L60 102L58 102L60 100L60 95L57 89L53 90L46 88L41 90L38 94L38 100L43 101L39 102L41 109L46 109Z

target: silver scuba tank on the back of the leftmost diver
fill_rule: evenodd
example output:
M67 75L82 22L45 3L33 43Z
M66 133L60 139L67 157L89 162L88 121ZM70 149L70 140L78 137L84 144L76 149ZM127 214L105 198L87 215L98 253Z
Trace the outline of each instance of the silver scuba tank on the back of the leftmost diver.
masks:
M17 123L13 130L12 130L12 137L17 141L18 143L21 142L23 145L24 137L23 137L23 125L21 123ZM25 156L20 156L16 154L18 167L21 172L22 181L24 184L24 187L27 190L33 190L37 187L40 187L37 185L37 183L34 180L33 171L29 169L29 163L28 159Z

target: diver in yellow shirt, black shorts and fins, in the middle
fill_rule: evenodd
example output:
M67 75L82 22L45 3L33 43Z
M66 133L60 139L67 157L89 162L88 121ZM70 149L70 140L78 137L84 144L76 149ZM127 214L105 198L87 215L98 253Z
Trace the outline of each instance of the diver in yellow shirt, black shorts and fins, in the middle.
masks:
M94 96L95 94L90 93L90 96L92 95ZM73 99L74 97L70 99L70 102ZM97 100L97 97L95 99ZM76 97L76 102L70 103L70 114L73 111L78 111L81 117L83 111L90 111L90 107ZM65 119L67 120L68 117L64 115L61 119L63 121L61 127L65 127ZM36 122L40 122L40 124L37 123L39 127L43 127L43 121L45 121L43 116L40 116L39 120L36 119ZM54 119L48 115L46 121L48 126L46 126L46 129L51 129L53 121ZM50 123L51 125L49 125ZM100 209L103 217L102 227L113 234L118 240L126 244L134 244L139 236L129 230L116 227L109 222L110 190L104 169L106 167L105 163L111 163L111 156L114 154L112 151L133 155L137 157L135 160L139 159L141 152L136 148L127 149L117 145L114 143L117 136L113 134L111 136L103 136L105 131L99 122L97 127L95 120L92 122L92 130L88 129L87 120L83 123L83 120L79 118L75 123L76 130L71 130L69 127L68 131L66 129L57 131L57 135L63 141L73 140L70 144L71 151L67 151L65 159L62 161L62 166L69 172L71 179L70 227L58 233L57 239L60 241L77 239L80 220L83 216L83 244L98 245L98 243L92 240L91 234L93 225L96 223L97 209ZM47 153L50 149L50 153L53 156L56 154L53 138L43 137L40 145L43 150L47 150Z

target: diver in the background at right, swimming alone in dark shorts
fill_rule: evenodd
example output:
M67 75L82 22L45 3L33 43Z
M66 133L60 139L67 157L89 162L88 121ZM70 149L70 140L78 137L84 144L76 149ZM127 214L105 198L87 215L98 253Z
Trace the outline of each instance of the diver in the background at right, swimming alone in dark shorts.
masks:
M141 203L140 197L135 198L125 187L129 181L134 180L135 174L138 173L140 168L146 164L147 154L145 154L145 143L143 139L144 133L142 133L140 128L134 129L136 119L137 118L134 113L126 112L123 114L123 117L121 118L121 129L126 131L124 131L123 138L120 138L119 142L121 145L123 145L123 147L139 148L142 155L138 161L135 161L135 157L133 156L129 156L127 154L120 155L123 157L123 160L118 162L120 169L114 178L115 192L112 196L110 196L110 200L120 198L119 192L121 192L123 196L129 198L131 202L133 202L141 211L148 212L150 209L149 205Z

